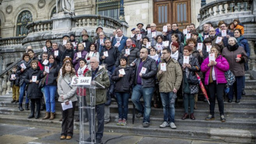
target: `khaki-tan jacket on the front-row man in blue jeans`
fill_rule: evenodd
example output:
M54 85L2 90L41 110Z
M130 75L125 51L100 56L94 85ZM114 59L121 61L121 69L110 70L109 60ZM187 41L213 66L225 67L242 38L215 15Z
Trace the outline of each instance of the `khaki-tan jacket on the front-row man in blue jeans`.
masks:
M179 90L182 81L182 70L179 62L171 58L166 63L166 71L159 74L161 63L165 63L165 61L162 59L159 63L156 75L159 80L159 92L172 92L174 88Z

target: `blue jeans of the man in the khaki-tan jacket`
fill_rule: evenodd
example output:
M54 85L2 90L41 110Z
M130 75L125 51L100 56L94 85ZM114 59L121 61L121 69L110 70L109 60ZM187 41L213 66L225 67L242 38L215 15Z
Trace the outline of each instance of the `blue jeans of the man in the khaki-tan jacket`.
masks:
M174 123L175 102L171 103L173 92L161 92L160 95L163 103L164 121L167 123Z

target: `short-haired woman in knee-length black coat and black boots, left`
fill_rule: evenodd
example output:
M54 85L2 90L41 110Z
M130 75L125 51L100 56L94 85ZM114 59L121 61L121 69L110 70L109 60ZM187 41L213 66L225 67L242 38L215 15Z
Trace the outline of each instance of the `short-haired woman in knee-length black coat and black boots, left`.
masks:
M38 67L38 61L33 60L30 63L31 68L28 69L25 76L25 83L28 84L27 94L30 99L30 111L31 114L28 118L35 117L35 103L36 103L36 119L39 118L41 108L42 92L38 88L38 83L41 79L42 71Z

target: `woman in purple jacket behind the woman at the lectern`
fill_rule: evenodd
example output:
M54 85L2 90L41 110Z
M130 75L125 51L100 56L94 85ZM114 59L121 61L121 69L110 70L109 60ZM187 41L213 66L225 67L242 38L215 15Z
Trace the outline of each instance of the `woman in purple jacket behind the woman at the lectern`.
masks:
M76 72L79 68L78 59L81 59L81 58L84 59L87 53L88 52L84 50L84 45L82 43L79 43L78 44L78 51L77 51L77 53L75 53L74 59L73 59L73 65L75 65Z

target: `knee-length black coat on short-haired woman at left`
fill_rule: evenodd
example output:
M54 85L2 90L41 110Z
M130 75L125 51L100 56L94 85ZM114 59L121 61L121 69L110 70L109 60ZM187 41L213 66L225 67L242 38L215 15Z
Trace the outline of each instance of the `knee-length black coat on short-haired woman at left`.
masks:
M27 94L28 94L28 99L41 99L42 97L42 92L41 89L38 88L38 84L36 82L30 83L30 79L32 79L32 76L37 76L37 81L41 80L41 75L43 71L40 70L39 67L36 69L29 68L27 70L27 74L25 76L25 82L28 84L28 89L27 89Z

